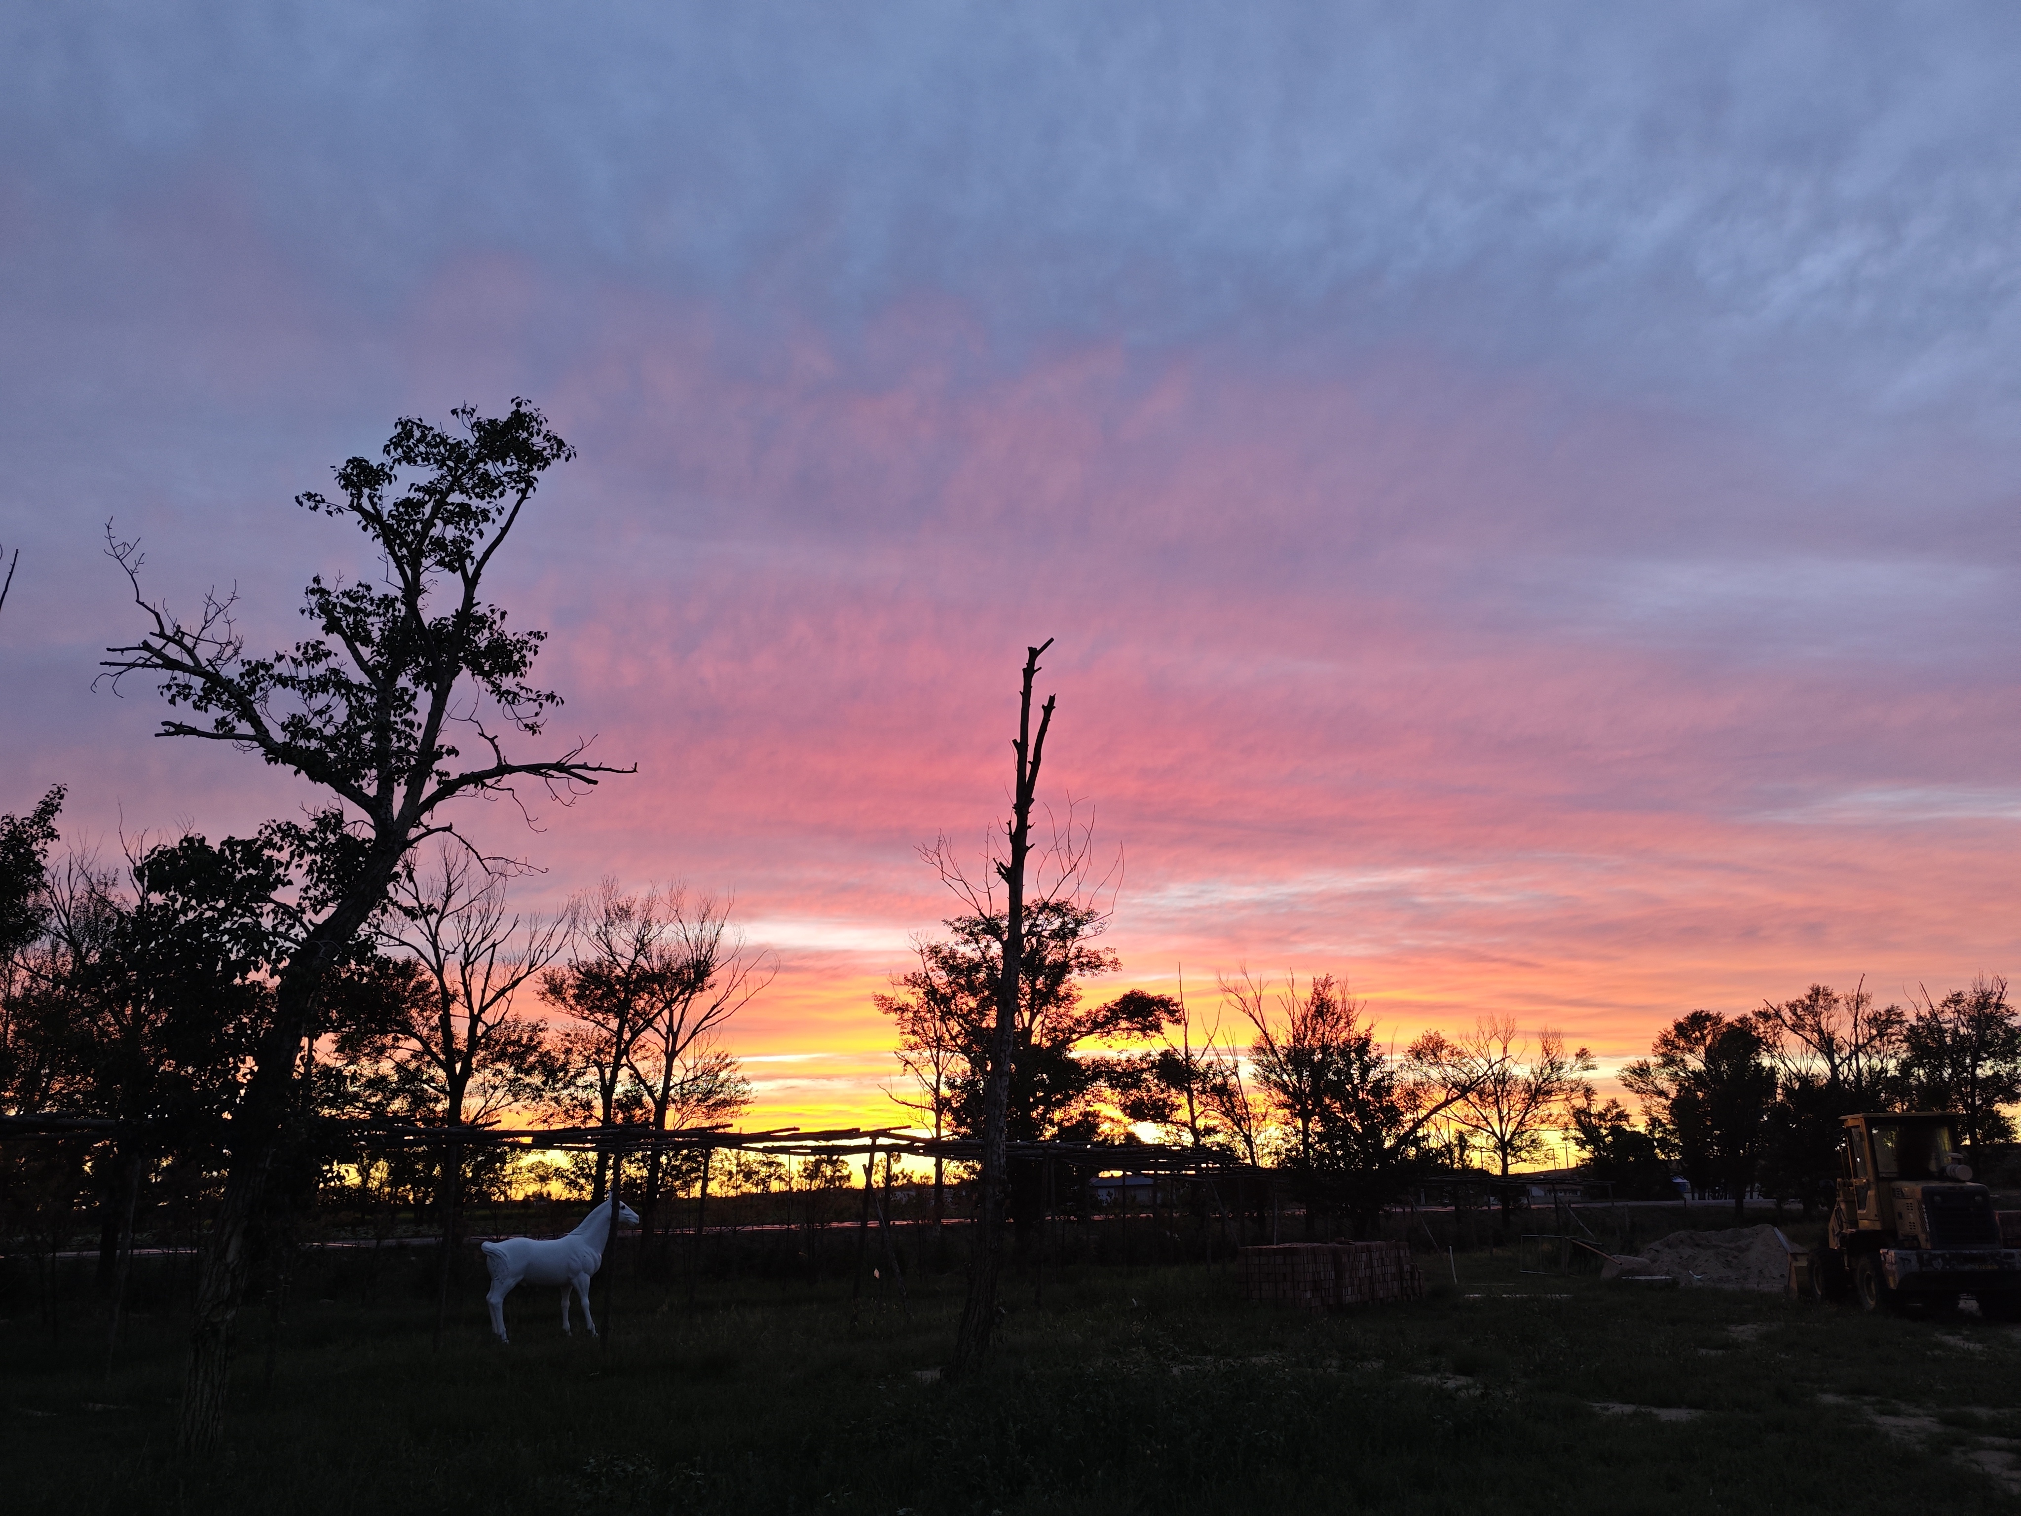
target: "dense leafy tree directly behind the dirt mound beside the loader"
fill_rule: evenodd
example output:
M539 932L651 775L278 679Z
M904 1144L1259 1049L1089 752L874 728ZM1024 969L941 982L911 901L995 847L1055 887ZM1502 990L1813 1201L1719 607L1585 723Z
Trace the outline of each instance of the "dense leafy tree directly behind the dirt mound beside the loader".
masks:
M1629 1063L1621 1083L1641 1100L1657 1142L1675 1146L1692 1189L1722 1187L1734 1215L1744 1215L1776 1096L1754 1019L1692 1011L1657 1033L1651 1055Z

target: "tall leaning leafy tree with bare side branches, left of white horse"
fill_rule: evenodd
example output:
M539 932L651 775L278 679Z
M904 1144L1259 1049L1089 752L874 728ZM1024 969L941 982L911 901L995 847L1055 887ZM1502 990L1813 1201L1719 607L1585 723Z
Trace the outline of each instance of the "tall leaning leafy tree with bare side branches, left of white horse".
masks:
M109 649L109 675L160 681L174 712L162 736L257 754L315 790L307 821L267 833L297 871L303 930L277 968L273 1017L232 1120L230 1170L198 1273L186 1453L208 1453L218 1439L247 1229L297 1110L323 984L384 910L400 863L451 831L443 807L455 798L515 794L525 780L566 798L576 784L629 772L588 762L580 742L538 760L507 752L515 734L542 734L558 695L527 681L544 633L513 631L483 598L483 580L542 475L574 451L523 400L505 416L469 406L455 416L461 431L402 418L378 461L338 467L335 499L297 495L364 534L378 582L311 578L303 617L313 633L269 657L247 653L236 596L206 594L194 623L150 600L137 544L107 532L146 625L139 641Z

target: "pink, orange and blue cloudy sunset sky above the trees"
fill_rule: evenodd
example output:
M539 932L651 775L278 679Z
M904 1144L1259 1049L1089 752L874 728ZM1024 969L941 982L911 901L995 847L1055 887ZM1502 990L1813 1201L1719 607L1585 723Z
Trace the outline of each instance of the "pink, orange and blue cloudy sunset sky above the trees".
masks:
M754 1122L887 1122L918 849L1043 794L1114 988L1332 970L1607 1063L2021 972L2021 10L12 6L0 811L212 837L105 522L236 584L398 414L580 449L499 566L546 873L736 897Z

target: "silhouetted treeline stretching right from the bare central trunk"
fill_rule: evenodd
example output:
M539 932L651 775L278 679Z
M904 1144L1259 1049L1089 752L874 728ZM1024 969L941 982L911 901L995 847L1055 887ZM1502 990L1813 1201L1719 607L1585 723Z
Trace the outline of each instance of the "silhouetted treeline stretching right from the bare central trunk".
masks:
M1429 1180L1506 1180L1554 1146L1627 1199L1673 1197L1681 1176L1736 1205L1760 1187L1809 1209L1829 1201L1841 1116L1948 1110L1977 1148L2013 1136L2001 1108L2021 1100L2021 1019L1999 978L1908 1007L1819 984L1740 1017L1694 1011L1621 1071L1631 1112L1599 1098L1597 1061L1556 1031L1483 1017L1397 1047L1328 974L1223 978L1207 1019L1178 997L1093 997L1120 968L1105 924L1075 897L1027 910L1010 1140L1128 1142L1152 1126L1275 1166L1308 1217L1356 1227ZM901 1104L936 1136L974 1138L1004 918L974 910L946 928L877 1005L897 1031ZM1013 1219L1037 1219L1041 1182L1039 1164L1013 1164Z

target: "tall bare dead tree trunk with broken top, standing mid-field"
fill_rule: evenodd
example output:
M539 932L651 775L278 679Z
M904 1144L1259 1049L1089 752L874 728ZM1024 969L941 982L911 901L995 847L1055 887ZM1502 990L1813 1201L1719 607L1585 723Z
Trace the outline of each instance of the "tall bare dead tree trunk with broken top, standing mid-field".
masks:
M968 1298L962 1302L962 1324L954 1338L954 1372L982 1360L996 1330L996 1275L1002 1271L1002 1225L1006 1174L1006 1120L1010 1110L1010 1055L1017 1045L1019 978L1025 958L1025 861L1031 855L1031 802L1039 784L1039 762L1045 754L1045 734L1053 724L1053 699L1047 697L1039 716L1039 732L1031 732L1031 681L1039 673L1039 655L1053 645L1049 637L1025 651L1025 685L1019 703L1017 788L1010 809L1010 857L1004 861L1004 958L996 984L996 1029L990 1037L990 1073L982 1102L982 1174L976 1251L968 1263Z

